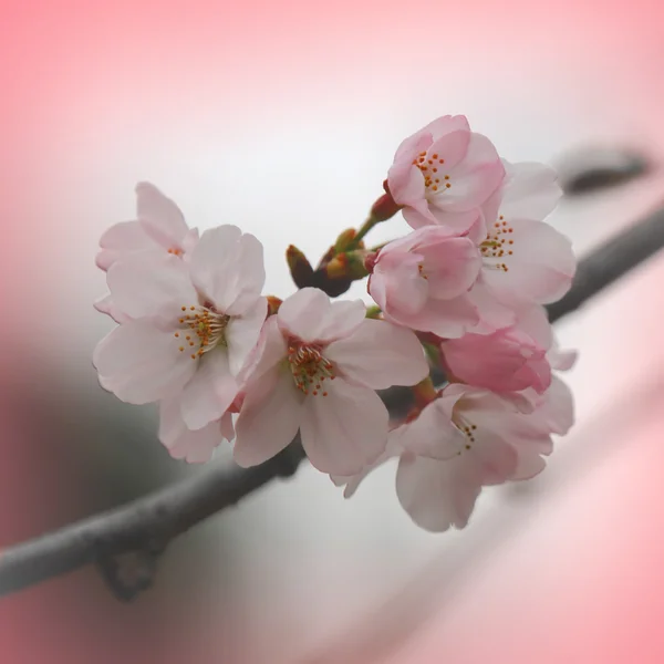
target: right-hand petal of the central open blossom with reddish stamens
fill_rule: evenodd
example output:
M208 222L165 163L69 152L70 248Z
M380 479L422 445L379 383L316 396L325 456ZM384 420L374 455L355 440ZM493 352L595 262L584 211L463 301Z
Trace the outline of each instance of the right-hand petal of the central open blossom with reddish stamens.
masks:
M364 320L355 332L324 351L344 376L372 387L415 385L428 375L417 336L385 321Z

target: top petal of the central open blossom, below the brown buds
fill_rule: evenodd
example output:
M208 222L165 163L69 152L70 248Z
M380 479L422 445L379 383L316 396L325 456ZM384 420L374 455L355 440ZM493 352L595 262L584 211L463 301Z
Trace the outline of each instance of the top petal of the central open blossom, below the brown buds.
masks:
M331 302L318 288L303 288L283 301L277 318L287 333L302 341L328 343L351 334L365 314L361 300Z

